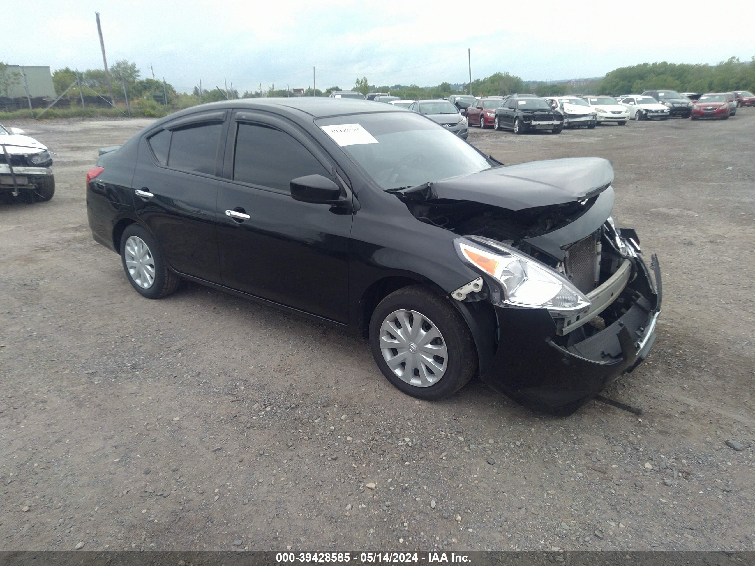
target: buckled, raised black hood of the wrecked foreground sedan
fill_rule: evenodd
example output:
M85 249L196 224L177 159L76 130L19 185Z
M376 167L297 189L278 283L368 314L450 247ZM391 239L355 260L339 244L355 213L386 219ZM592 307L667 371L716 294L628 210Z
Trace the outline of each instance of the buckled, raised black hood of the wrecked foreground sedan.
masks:
M503 165L398 191L424 200L448 198L520 211L589 198L613 181L607 159L579 157Z

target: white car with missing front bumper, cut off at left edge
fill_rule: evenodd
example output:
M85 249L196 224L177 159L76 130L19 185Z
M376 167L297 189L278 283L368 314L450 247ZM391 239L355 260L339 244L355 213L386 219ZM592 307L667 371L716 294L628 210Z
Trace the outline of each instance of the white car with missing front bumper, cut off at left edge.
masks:
M0 125L0 199L23 194L32 202L49 201L55 193L52 157L46 146L24 133Z

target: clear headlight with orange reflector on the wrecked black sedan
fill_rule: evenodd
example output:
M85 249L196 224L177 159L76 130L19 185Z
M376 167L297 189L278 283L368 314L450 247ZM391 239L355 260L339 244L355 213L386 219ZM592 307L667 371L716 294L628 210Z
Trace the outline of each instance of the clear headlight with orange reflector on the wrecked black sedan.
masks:
M464 262L501 284L504 297L497 299L494 294L494 303L547 309L557 317L590 306L590 300L569 279L534 257L478 236L458 239L455 243Z

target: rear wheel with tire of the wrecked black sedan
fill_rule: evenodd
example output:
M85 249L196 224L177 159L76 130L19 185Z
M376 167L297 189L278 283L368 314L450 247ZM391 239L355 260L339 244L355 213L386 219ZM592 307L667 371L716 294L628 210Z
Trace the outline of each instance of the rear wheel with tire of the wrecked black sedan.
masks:
M147 299L171 294L181 281L168 269L157 242L138 224L130 224L121 235L121 262L131 287Z

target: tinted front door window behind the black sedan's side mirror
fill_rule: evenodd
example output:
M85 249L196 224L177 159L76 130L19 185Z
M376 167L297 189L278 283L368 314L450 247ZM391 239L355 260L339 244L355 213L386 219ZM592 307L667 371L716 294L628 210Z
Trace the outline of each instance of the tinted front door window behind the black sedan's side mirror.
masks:
M301 143L280 130L239 124L233 178L244 183L291 190L291 179L331 175Z

